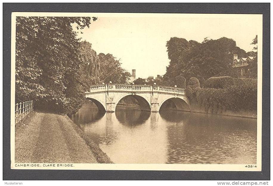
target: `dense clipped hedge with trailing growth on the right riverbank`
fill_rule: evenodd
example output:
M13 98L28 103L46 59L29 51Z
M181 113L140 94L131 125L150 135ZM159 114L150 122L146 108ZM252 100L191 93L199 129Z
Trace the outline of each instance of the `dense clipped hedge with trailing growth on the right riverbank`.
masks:
M225 82L221 83L221 79ZM230 77L217 77L208 79L206 85L209 88L196 93L198 104L206 112L257 110L257 79L234 78L232 83Z

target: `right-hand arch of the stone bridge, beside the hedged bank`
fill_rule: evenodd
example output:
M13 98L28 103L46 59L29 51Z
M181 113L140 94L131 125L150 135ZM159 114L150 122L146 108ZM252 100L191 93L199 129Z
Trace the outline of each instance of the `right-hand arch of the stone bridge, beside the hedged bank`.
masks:
M190 106L188 104L187 97L172 97L164 99L159 104L159 112L164 109L175 109L175 110L183 110L183 111L190 111Z

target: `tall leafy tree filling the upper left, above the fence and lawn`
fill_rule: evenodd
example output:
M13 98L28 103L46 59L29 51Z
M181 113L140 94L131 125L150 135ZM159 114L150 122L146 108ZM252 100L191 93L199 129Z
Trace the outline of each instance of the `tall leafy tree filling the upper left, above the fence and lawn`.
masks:
M90 17L16 17L16 100L36 108L71 113L80 107L80 38Z

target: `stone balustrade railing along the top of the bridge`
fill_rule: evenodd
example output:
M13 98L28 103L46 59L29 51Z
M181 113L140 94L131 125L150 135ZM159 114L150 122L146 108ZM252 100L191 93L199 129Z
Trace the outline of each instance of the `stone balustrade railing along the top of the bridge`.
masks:
M126 92L164 92L184 95L185 90L176 87L166 87L161 85L125 85L125 84L102 84L91 85L90 92L96 93L104 91L126 91Z

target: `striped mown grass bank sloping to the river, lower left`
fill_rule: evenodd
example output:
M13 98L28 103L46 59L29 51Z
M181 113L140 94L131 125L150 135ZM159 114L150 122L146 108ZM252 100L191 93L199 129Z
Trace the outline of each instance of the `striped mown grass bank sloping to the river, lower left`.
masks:
M112 163L66 115L34 112L15 129L16 163Z

